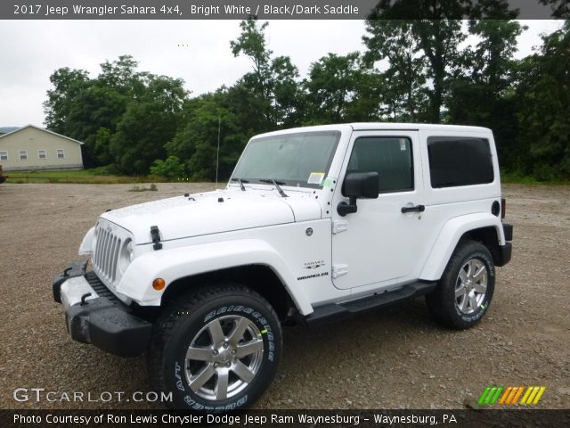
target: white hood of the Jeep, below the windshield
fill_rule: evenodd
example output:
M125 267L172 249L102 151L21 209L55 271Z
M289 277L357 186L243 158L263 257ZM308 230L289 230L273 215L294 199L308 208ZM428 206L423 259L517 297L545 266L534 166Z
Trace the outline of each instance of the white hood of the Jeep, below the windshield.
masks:
M281 198L272 192L216 191L178 196L105 212L101 216L151 243L151 226L161 241L274 226L321 218L320 205L308 194Z

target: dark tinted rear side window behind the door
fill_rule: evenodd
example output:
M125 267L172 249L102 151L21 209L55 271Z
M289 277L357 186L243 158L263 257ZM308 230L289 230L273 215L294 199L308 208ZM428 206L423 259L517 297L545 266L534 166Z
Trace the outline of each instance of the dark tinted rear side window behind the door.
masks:
M493 182L491 148L485 138L429 136L428 157L433 188Z

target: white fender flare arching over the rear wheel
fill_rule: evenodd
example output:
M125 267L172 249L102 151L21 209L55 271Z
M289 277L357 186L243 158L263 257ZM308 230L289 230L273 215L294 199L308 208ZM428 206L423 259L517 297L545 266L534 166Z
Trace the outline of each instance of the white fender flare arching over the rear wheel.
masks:
M436 243L434 243L428 259L419 273L419 279L439 281L442 275L444 275L447 262L451 259L461 236L471 230L482 227L494 227L497 232L499 245L505 244L501 219L493 216L491 213L479 212L452 218L444 224L437 236Z

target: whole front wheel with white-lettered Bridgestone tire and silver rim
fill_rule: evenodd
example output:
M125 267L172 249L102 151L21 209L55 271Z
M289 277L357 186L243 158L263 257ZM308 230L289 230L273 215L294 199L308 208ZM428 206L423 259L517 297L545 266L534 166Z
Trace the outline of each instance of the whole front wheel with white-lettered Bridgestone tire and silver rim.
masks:
M171 407L232 410L253 403L281 358L281 325L269 303L248 288L193 292L155 326L149 374Z

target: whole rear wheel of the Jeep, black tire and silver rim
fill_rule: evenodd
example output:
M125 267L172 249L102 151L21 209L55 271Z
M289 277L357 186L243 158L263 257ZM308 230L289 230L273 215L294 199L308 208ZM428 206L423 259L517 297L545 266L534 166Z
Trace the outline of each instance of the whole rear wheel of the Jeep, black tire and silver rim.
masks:
M489 309L494 286L493 257L485 245L459 243L436 291L426 296L429 313L451 328L472 327Z

